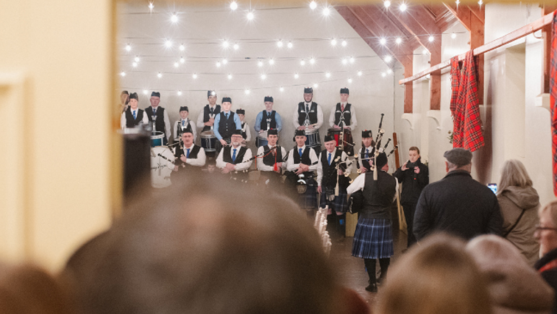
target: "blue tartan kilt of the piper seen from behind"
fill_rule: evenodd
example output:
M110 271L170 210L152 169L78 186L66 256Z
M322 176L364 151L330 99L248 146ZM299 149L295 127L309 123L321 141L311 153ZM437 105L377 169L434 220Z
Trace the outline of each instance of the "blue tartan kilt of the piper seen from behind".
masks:
M358 219L352 256L360 258L389 258L393 256L393 232L390 219Z

